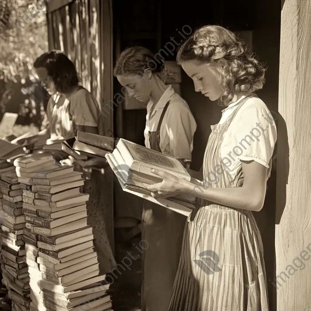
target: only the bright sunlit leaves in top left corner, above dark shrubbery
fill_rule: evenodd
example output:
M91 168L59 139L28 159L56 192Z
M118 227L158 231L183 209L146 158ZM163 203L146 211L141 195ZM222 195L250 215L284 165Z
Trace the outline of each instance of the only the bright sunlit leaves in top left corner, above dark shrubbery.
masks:
M31 10L35 7L33 0L0 1L0 79L16 82L33 76L33 62L48 50L45 9ZM21 17L27 24L19 23Z

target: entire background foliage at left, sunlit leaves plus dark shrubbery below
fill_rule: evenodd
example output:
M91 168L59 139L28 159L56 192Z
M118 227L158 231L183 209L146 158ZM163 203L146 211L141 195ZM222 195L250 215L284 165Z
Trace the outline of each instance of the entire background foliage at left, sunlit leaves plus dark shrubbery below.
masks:
M0 0L0 46L0 119L5 111L19 112L17 124L40 126L43 103L26 99L21 88L35 77L35 59L48 51L45 2Z

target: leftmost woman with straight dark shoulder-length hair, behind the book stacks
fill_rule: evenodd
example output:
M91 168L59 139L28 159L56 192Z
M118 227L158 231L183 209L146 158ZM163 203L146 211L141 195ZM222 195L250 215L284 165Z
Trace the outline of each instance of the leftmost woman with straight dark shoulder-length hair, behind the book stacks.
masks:
M27 138L27 144L48 138L72 138L77 135L77 130L98 134L98 103L89 91L78 85L76 67L67 56L59 51L50 51L37 58L34 67L38 77L45 82L47 90L53 95L46 111L47 127L38 135ZM86 162L87 167L98 164L97 160L92 159ZM90 194L87 202L88 223L93 228L100 273L110 272L116 265L105 230L103 178L100 171L93 170L91 179L85 181L83 188L84 192Z

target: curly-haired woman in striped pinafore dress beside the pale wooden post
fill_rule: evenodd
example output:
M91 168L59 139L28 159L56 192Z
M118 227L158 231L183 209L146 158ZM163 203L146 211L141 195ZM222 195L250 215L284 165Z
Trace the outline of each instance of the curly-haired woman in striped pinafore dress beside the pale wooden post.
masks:
M147 187L156 197L202 199L188 217L168 310L267 311L262 240L252 214L262 209L276 142L277 116L253 94L263 86L265 69L220 26L196 30L177 61L195 90L225 109L211 126L203 186L155 169L163 181Z

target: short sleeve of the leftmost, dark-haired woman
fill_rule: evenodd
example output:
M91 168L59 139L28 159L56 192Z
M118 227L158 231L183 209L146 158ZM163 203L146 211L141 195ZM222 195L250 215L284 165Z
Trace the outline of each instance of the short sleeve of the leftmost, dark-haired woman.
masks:
M80 126L97 127L99 106L95 97L87 90L81 90L70 100L70 114Z

